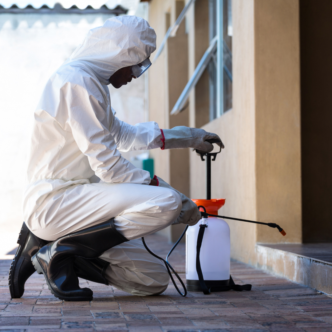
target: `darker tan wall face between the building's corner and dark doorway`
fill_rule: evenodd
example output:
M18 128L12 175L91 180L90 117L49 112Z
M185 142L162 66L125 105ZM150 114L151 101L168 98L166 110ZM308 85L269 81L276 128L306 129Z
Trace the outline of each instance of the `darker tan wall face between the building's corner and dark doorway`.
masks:
M255 0L257 216L287 232L258 242L302 240L299 55L298 1Z

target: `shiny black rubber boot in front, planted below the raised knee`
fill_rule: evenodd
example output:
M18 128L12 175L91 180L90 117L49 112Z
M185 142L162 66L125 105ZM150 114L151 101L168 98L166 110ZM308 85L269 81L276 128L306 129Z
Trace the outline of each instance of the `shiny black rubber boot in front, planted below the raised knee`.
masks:
M35 269L44 275L55 297L65 301L92 300L92 290L79 287L74 261L78 256L97 258L106 250L128 241L115 229L113 219L60 237L32 257Z

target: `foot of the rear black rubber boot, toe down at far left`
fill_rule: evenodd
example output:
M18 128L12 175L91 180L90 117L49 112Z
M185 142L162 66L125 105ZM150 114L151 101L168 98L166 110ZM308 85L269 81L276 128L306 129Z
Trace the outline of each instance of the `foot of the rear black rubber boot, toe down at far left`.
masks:
M47 242L31 233L23 222L17 240L19 247L9 270L8 284L12 298L19 298L23 295L25 282L36 271L31 263L31 257Z

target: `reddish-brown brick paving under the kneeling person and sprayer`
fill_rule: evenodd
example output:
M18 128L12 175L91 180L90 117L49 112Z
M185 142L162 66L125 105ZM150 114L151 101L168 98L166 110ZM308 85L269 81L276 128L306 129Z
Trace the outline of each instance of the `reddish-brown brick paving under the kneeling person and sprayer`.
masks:
M158 235L146 242L164 257L170 249ZM170 261L184 279L184 244ZM231 262L232 277L237 284L252 284L251 291L182 297L170 285L162 295L144 297L81 280L81 287L94 292L91 302L58 300L38 274L28 280L22 298L11 299L10 263L0 261L0 332L332 332L331 297L238 262Z

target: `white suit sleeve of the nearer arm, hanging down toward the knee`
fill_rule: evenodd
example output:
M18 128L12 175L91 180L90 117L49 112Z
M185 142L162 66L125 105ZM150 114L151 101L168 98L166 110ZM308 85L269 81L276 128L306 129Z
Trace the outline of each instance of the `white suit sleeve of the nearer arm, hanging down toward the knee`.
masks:
M64 103L63 106L67 108L66 130L72 131L79 149L88 157L95 174L109 183L149 184L149 172L136 168L118 151L108 125L107 105L102 93L92 93L80 85L68 83L61 88L60 94L60 103Z

